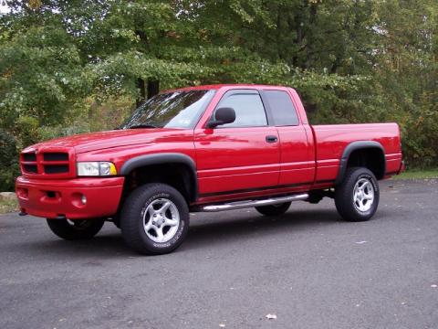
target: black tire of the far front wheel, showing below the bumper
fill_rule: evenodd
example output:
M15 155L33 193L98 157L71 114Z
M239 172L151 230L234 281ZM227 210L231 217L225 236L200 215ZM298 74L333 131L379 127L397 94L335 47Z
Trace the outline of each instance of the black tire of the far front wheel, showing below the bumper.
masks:
M93 219L50 219L47 225L59 238L67 240L91 239L103 227L105 218Z

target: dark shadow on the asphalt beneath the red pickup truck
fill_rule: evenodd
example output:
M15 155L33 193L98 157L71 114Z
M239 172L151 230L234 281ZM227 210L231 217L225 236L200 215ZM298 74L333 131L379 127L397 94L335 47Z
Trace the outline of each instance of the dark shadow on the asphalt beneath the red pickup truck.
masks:
M380 211L378 218L385 217ZM272 236L306 232L309 229L328 227L334 225L360 225L360 223L344 222L339 218L336 210L312 209L289 211L285 215L270 218L261 216L255 211L230 211L224 215L196 214L191 219L188 238L182 247L173 254L182 254L193 249L209 248L212 245L241 244L251 239L259 240L272 238ZM372 219L371 219L372 220ZM106 226L110 226L107 224ZM52 237L52 239L38 241L20 241L20 246L25 247L36 257L44 254L54 254L59 257L65 253L68 258L126 258L141 257L129 249L121 238L117 228L104 228L94 239L81 241L65 241Z

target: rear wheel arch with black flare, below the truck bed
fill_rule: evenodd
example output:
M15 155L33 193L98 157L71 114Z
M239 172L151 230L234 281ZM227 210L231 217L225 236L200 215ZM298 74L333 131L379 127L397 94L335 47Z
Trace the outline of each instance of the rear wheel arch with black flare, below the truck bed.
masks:
M342 182L350 166L364 166L382 179L386 172L385 150L381 143L375 141L357 141L349 143L340 157L339 173L335 184Z

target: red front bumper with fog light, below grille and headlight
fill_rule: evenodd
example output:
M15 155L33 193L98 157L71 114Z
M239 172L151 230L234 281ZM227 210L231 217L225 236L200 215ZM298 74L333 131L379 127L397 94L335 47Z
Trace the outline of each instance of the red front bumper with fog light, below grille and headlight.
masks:
M116 214L124 177L16 179L22 213L41 218L101 218ZM85 196L87 202L83 204Z

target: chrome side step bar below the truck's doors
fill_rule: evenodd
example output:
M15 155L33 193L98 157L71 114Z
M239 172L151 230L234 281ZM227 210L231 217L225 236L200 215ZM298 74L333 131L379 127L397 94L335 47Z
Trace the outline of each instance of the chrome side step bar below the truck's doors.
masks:
M285 202L304 201L307 199L308 199L308 194L303 193L294 196L278 196L278 197L270 197L263 200L245 200L245 201L229 202L220 205L203 206L201 207L201 210L206 212L217 212L224 210L243 209L246 207L262 207L262 206L277 205Z

